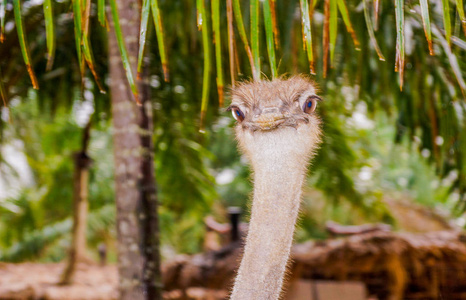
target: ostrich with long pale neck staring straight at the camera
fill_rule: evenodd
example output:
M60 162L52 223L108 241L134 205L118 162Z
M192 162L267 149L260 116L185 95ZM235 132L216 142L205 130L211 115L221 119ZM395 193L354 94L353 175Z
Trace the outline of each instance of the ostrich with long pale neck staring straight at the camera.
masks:
M249 233L232 300L280 297L301 187L320 143L319 100L314 84L300 76L243 83L232 91L228 110L254 172Z

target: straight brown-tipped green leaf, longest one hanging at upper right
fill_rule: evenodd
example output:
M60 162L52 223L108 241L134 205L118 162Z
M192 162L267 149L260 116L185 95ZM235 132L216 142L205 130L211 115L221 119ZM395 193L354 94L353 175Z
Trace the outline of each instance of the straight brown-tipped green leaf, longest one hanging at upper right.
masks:
M404 34L404 0L395 0L396 17L396 61L395 72L400 75L400 90L403 90L403 73L405 68L405 34Z

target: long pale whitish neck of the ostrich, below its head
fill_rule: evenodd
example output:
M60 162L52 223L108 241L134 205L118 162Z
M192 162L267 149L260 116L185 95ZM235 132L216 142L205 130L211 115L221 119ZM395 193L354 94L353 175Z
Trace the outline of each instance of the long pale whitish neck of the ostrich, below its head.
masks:
M278 299L298 216L307 159L267 147L251 158L254 198L244 256L232 300Z

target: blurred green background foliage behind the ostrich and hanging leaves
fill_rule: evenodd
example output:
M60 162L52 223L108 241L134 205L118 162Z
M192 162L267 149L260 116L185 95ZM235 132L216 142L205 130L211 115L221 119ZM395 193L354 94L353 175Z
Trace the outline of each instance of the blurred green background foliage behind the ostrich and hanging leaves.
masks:
M347 0L360 50L338 17L333 68L323 77L323 25L326 1L314 1L312 18L316 74L312 78L325 101L318 108L324 121L324 143L313 161L304 193L297 241L325 238L325 222L401 225L400 205L415 202L440 210L463 227L466 204L466 119L461 84L466 70L465 32L450 1L452 45L445 40L443 1L429 1L433 28L430 56L418 1L405 3L406 65L403 91L394 72L396 24L393 1L380 1L375 23L373 5L367 13L385 61L370 41L363 2ZM399 2L399 1L397 1ZM5 41L0 44L1 81L8 103L2 109L0 140L0 260L58 261L70 246L72 226L72 153L80 147L83 127L92 115L88 241L110 245L114 257L115 208L113 149L108 94L101 94L92 74L83 83L75 53L70 1L54 2L56 51L46 71L46 37L41 1L22 1L33 67L39 90L33 90L19 55L12 1L6 3ZM210 1L206 1L210 11ZM276 2L280 74L309 73L303 50L299 1ZM170 81L163 80L153 29L146 51L150 60L156 177L161 201L162 255L202 250L203 218L226 221L226 207L248 210L249 171L236 151L234 123L219 107L215 72L211 74L209 107L200 133L204 52L196 27L194 1L160 0ZM249 5L241 1L245 24ZM220 19L226 19L221 3ZM107 29L91 9L91 44L97 73L108 90ZM205 16L211 24L210 15ZM261 15L262 19L262 15ZM246 26L249 32L249 26ZM226 22L221 44L227 53ZM211 34L211 30L209 32ZM237 34L237 32L236 32ZM261 31L261 70L271 77ZM210 45L212 46L212 45ZM251 69L236 36L239 79ZM211 47L211 52L213 47ZM228 65L228 55L222 56ZM214 61L214 55L211 57ZM227 76L227 69L224 75ZM458 75L459 71L459 75ZM456 72L456 74L455 74ZM227 76L226 82L229 81ZM461 83L462 82L462 83ZM401 203L401 204L398 204ZM409 217L406 217L409 219ZM404 219L406 219L404 218ZM247 216L245 217L247 220ZM420 225L422 227L423 225ZM427 225L426 225L427 226ZM441 228L441 227L439 227Z

